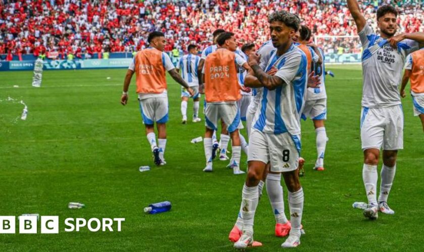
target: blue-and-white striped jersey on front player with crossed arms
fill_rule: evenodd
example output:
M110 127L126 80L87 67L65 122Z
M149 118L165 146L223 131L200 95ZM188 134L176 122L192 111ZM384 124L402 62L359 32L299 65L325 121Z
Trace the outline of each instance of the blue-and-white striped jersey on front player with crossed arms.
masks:
M300 135L300 115L306 99L307 60L302 50L292 44L283 55L274 51L266 72L275 66L275 76L285 84L274 90L263 88L253 128L267 134ZM300 143L300 140L299 140Z

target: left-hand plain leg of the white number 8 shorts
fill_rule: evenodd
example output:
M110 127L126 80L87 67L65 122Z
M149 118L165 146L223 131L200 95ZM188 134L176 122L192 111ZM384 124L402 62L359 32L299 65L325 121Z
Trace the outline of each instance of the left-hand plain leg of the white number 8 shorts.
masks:
M249 137L247 161L261 161L267 164L270 161L267 137L263 132L252 130Z

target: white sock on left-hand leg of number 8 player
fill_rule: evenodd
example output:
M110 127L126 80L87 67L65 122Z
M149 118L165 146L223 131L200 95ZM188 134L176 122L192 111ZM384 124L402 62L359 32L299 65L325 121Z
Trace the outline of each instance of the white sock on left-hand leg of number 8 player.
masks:
M253 235L253 219L258 203L257 185L247 187L243 186L241 201L241 216L243 218L243 233L248 232Z

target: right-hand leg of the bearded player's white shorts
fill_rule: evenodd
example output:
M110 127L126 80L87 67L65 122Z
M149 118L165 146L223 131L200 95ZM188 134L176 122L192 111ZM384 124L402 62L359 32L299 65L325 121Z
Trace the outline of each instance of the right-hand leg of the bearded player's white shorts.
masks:
M384 133L384 150L403 149L403 111L401 105L385 108L387 120Z

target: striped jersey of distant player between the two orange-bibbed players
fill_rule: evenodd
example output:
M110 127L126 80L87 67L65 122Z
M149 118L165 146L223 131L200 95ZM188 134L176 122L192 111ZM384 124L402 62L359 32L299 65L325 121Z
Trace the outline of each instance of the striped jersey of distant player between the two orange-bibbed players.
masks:
M199 79L197 78L199 61L199 56L189 53L180 57L180 61L177 64L177 69L181 71L181 76L189 87L199 85Z

